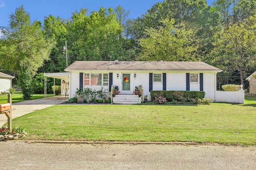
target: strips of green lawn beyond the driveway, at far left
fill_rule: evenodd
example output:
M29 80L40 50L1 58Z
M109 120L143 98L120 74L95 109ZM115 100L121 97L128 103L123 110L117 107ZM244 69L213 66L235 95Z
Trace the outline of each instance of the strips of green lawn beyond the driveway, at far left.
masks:
M47 97L52 97L53 94L47 94ZM33 94L32 100L44 98L44 94ZM0 104L7 103L8 95L1 95L0 96ZM23 100L22 93L20 91L15 92L15 94L12 94L12 103L17 102L24 102L26 100Z

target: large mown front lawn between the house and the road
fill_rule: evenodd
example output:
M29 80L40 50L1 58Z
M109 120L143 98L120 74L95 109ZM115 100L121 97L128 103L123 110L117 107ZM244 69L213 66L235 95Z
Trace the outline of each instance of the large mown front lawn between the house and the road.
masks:
M34 140L256 145L256 97L245 104L52 106L13 119Z

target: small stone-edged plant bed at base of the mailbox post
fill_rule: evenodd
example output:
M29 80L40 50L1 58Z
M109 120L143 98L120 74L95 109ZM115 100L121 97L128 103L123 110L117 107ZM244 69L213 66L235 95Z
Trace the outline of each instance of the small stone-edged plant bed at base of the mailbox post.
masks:
M18 138L24 137L26 135L26 131L24 131L24 127L16 126L12 128L12 133L8 127L0 128L0 141L8 141L8 140L17 140Z

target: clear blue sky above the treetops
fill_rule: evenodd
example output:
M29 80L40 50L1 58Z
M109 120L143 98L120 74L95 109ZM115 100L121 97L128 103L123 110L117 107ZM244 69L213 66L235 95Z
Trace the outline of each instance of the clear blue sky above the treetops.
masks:
M15 9L24 5L26 12L30 13L31 21L39 20L44 23L44 17L53 15L69 19L72 12L80 8L88 8L89 12L98 11L101 7L116 8L120 5L130 10L128 18L138 18L157 2L164 0L0 0L0 26L8 26L9 15ZM207 0L211 5L214 0Z

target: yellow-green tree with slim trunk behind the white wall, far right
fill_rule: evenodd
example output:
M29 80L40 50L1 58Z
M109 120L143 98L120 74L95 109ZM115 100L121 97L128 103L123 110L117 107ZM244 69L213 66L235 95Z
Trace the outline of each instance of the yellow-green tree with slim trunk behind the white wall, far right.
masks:
M256 15L222 29L216 35L214 45L212 55L218 56L219 62L228 61L238 70L240 82L244 85L244 69L256 57Z

